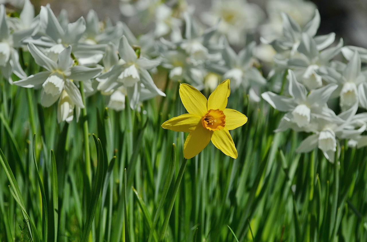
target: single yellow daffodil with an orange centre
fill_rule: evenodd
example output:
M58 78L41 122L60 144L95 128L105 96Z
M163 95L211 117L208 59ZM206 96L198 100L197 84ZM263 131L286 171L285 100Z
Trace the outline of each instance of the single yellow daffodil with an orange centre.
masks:
M234 109L227 109L230 94L229 79L215 88L208 100L196 88L181 84L179 94L189 112L162 124L165 129L189 132L183 145L183 156L190 159L199 154L211 140L224 154L237 158L237 150L229 130L247 122L247 117Z

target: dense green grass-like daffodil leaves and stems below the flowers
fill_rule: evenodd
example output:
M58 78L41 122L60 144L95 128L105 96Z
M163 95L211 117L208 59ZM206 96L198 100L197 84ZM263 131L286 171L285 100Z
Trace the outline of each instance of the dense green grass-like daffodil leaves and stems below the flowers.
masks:
M240 91L238 158L209 144L185 160L186 134L160 126L185 113L178 83L139 111L91 96L70 124L39 91L0 85L0 241L367 240L366 149L298 154L305 134L273 133L281 114Z

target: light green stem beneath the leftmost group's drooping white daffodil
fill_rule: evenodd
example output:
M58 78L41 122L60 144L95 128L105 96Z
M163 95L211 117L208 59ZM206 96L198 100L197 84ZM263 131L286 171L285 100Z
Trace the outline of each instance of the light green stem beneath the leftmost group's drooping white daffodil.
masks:
M88 119L87 119L87 103L84 94L83 82L79 82L79 90L81 94L81 99L83 100L84 108L81 109L81 121L83 125L83 136L84 136L84 162L86 166L86 173L89 181L89 185L92 184L91 178L91 158L90 158L90 148L89 148L89 129L88 129Z

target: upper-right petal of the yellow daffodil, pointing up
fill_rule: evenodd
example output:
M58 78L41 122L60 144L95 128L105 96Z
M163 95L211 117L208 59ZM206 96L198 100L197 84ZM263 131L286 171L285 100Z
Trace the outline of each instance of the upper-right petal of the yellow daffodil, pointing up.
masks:
M208 98L208 110L224 110L227 106L227 99L230 94L229 79L225 80L215 88L214 92Z

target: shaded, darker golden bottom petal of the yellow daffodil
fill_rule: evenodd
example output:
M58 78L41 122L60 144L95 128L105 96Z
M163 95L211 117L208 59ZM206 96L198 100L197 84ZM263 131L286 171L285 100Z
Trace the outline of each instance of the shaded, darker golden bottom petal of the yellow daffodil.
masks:
M204 128L200 122L196 129L187 136L183 144L183 156L190 159L199 154L208 145L212 134L213 131Z

